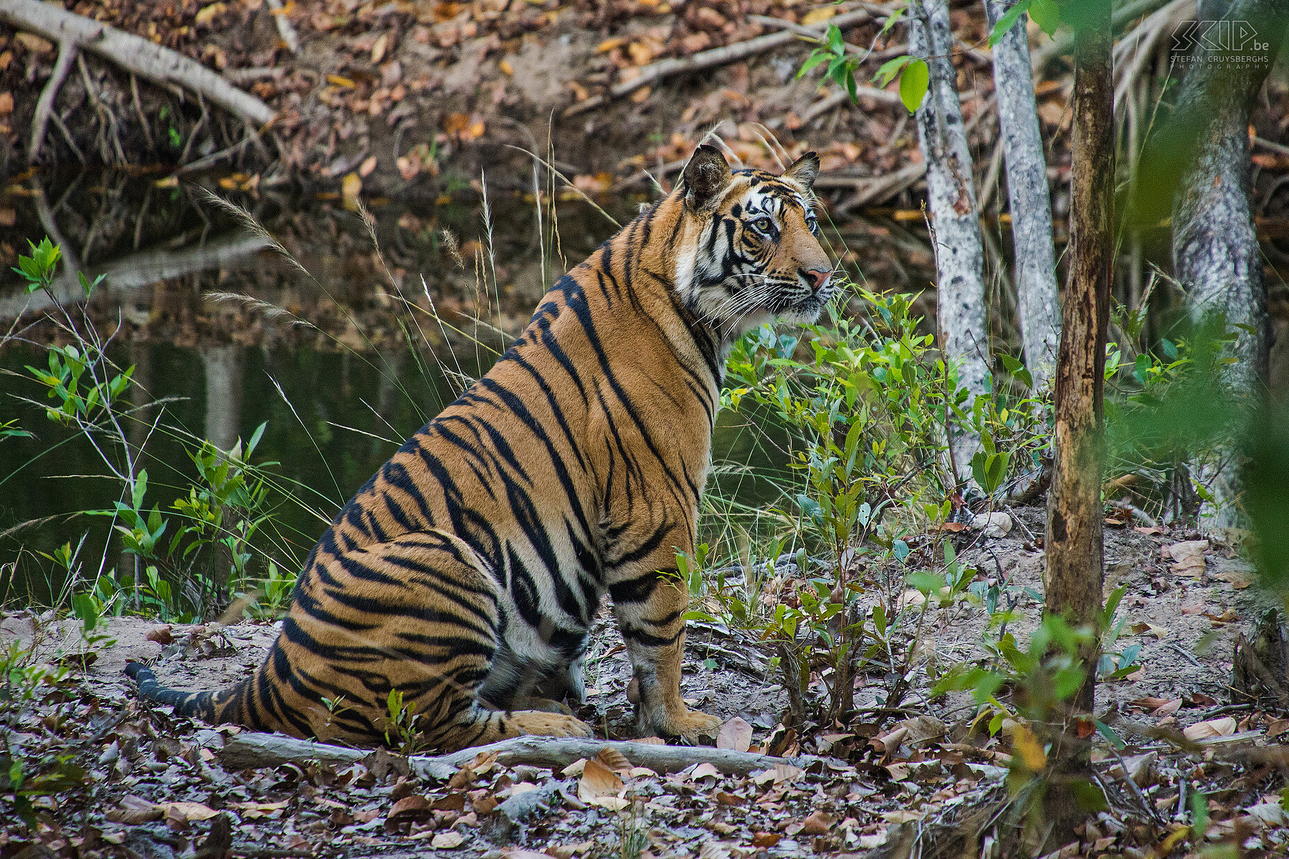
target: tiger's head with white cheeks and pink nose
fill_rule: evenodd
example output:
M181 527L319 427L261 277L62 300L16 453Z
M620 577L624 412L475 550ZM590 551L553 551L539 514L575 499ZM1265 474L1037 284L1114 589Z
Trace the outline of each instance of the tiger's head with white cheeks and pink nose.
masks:
M819 156L807 152L782 175L731 170L700 146L675 191L684 237L675 288L726 343L775 317L809 324L831 298L833 264L819 244L811 186Z

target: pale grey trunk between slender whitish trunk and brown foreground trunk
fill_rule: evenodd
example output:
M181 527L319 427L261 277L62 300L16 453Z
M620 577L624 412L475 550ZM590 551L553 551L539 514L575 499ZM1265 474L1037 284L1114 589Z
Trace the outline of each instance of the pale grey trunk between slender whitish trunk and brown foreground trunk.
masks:
M985 0L990 27L1012 5L1014 0ZM1007 157L1021 342L1034 390L1040 391L1052 379L1056 365L1061 304L1057 299L1056 249L1052 245L1052 195L1047 183L1047 160L1039 133L1023 18L1021 15L1021 21L994 45L994 92L998 95L1003 155Z

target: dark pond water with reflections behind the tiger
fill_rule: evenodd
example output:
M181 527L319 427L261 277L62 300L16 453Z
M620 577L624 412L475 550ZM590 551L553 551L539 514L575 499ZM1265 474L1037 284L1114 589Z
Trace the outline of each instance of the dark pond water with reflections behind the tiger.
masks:
M0 210L13 209L14 226L0 230L0 254L8 272L27 239L54 235L79 268L107 273L77 321L104 337L115 331L111 359L134 368L125 399L137 410L124 426L142 450L148 507L165 512L187 494L197 440L228 449L266 424L255 462L273 463L266 468L273 515L257 544L299 562L402 439L487 370L563 261L576 263L616 230L592 206L562 202L544 212L539 233L531 195L490 195L491 231L469 190L374 201L385 262L415 308L397 298L357 215L320 197L235 197L309 276L195 190L128 177L10 186ZM625 221L632 212L612 214ZM58 291L73 303L80 288L66 279ZM45 418L43 388L24 369L45 366L46 344L68 339L40 313L19 316L40 299L23 295L15 276L0 276L0 320L5 329L18 320L0 346L0 420L34 433L0 440L0 602L10 604L57 595L63 577L43 553L82 537L85 575L133 569L108 520L82 513L111 509L120 481L82 436ZM758 475L782 468L777 444L763 420L723 414L722 495L772 499L773 486Z

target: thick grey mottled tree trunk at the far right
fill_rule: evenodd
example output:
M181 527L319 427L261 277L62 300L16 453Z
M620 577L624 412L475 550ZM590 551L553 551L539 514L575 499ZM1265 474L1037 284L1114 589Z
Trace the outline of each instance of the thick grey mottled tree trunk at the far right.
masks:
M1232 41L1226 50L1204 40L1196 44L1178 98L1174 129L1194 135L1194 142L1187 141L1185 173L1173 196L1173 268L1187 289L1191 320L1225 316L1235 331L1226 351L1234 362L1225 369L1223 384L1236 400L1250 400L1261 396L1267 378L1268 342L1262 254L1249 206L1246 129L1249 107L1284 41L1284 0L1200 0L1196 18L1230 21ZM1245 34L1253 44L1241 44ZM1201 507L1200 526L1225 537L1241 518L1240 463L1232 450L1218 457L1199 468L1213 495Z

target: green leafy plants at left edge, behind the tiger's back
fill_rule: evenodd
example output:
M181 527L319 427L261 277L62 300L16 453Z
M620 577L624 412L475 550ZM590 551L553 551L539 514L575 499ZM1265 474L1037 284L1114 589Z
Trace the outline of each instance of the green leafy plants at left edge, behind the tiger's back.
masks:
M273 503L267 468L276 463L253 463L262 439L262 424L245 445L237 441L220 450L201 439L182 437L196 471L196 480L180 489L166 509L155 500L150 475L139 466L143 450L126 435L125 427L141 419L125 399L134 368L117 366L107 353L111 338L103 338L88 317L72 313L54 290L61 253L48 239L28 242L31 255L22 255L14 271L27 282L27 291L43 290L52 302L54 321L71 341L48 347L45 366L27 366L30 379L44 390L45 415L77 431L98 453L108 476L120 485L120 498L107 509L84 509L81 515L107 518L126 555L135 558L134 569L99 565L93 580L81 577L79 549L71 543L44 557L62 569L67 586L63 598L92 635L104 615L126 611L162 620L191 622L220 611L233 591L260 617L280 611L294 578L282 577L267 552L260 552L267 569L262 580L269 589L268 606L255 604L257 574L253 571L251 542L271 520ZM77 275L89 297L99 281ZM160 422L148 424L147 437ZM170 427L164 431L174 432ZM0 439L31 433L15 422L0 427ZM144 442L146 444L146 442ZM173 488L165 488L173 491ZM186 489L186 491L184 491ZM286 564L294 568L294 560Z

